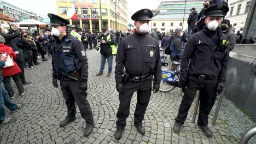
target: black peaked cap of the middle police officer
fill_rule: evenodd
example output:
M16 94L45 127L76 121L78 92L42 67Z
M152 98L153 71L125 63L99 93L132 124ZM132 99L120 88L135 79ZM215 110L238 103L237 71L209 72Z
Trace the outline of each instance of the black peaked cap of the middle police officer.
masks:
M148 20L153 17L153 13L150 9L141 9L138 10L136 13L132 15L132 20L133 21L138 21L138 20Z

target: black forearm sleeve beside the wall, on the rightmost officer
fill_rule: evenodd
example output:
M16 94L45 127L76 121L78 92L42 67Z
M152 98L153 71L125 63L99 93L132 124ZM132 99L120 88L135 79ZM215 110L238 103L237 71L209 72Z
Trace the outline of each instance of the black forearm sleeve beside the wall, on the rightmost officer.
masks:
M229 63L229 51L226 51L224 54L224 57L222 58L222 61L220 61L221 68L218 76L219 81L226 81L226 70L228 69L228 63Z

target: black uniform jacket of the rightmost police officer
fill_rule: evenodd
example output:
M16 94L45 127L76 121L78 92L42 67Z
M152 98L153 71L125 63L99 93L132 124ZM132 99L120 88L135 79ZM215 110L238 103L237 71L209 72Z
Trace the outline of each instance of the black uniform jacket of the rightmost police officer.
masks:
M205 27L188 40L181 61L181 79L187 80L189 75L206 75L207 79L226 80L229 52L219 51L219 46L217 49L214 48L213 41L213 39L220 39L219 42L215 41L220 43L221 39L226 39L225 35L218 33L215 37L219 35L219 38L213 38L209 31Z

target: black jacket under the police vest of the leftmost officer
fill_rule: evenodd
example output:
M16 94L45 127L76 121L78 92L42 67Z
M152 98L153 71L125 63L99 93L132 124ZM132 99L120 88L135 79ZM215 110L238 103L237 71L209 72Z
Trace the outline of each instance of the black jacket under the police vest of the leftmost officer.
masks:
M53 51L59 51L62 49L63 46L65 46L65 41L67 41L67 43L72 43L71 39L69 37L73 37L72 35L65 35L61 40L54 36L55 38L55 46ZM80 65L80 70L81 70L81 74L80 77L82 80L87 80L88 79L88 59L87 59L87 55L85 53L84 50L84 46L82 44L81 41L79 41L78 39L73 39L73 43L71 45L71 51L74 52L74 55L76 56L76 58L79 61L79 65ZM54 53L53 53L54 55ZM57 74L53 71L53 77L57 77Z

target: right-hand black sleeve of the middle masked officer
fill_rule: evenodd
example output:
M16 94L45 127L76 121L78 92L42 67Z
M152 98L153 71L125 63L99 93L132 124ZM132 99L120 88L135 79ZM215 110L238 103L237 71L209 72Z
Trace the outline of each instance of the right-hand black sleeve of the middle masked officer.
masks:
M162 65L161 65L161 57L160 57L160 50L159 50L159 44L157 41L156 43L156 58L155 58L155 69L154 69L154 78L155 83L161 82L161 73L162 73Z

